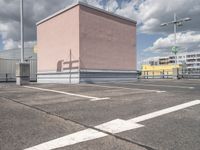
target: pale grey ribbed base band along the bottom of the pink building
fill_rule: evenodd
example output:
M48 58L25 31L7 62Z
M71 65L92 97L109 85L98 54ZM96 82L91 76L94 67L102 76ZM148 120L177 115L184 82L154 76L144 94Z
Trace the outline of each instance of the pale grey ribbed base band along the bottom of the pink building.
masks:
M46 72L37 75L38 83L76 84L84 82L134 81L137 71L72 70L71 72Z

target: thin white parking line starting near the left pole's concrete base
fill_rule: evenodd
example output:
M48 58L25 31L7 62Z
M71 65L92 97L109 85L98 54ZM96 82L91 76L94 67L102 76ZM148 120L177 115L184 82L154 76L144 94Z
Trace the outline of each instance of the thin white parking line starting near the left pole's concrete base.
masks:
M101 100L101 99L103 99L103 100L110 99L109 97L99 98L99 97L93 97L93 96L87 96L87 95L81 95L81 94L75 94L75 93L69 93L69 92L63 92L63 91L57 91L57 90L51 90L51 89L44 89L44 88L33 87L33 86L24 86L24 87L29 88L29 89L36 89L36 90L40 90L40 91L54 92L54 93L59 93L59 94L64 94L64 95L87 98L87 99L90 99L91 101Z

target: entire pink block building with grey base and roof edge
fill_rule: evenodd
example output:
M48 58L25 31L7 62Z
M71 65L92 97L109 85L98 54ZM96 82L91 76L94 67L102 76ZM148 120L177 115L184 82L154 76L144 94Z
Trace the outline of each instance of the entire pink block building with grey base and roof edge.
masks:
M132 80L136 22L84 3L37 23L38 82Z

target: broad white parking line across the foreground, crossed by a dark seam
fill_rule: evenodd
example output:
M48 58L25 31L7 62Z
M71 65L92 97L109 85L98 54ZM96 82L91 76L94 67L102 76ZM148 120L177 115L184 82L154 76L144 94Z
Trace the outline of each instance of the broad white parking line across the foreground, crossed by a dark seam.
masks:
M138 124L138 122L156 118L198 104L200 104L200 100L194 100L129 120L115 119L107 123L95 126L94 128L88 128L79 132L75 132L73 134L63 136L58 139L54 139L45 143L41 143L39 145L27 148L25 150L52 150L56 148L78 144L89 140L102 138L108 135L113 135L115 133L137 129L140 127L144 127L144 125Z

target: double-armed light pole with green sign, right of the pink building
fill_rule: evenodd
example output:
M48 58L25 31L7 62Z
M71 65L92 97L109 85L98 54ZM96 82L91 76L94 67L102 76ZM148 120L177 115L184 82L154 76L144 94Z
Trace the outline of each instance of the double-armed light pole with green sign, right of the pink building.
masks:
M161 24L161 27L164 27L164 26L168 26L170 24L173 24L174 25L174 46L172 47L172 52L175 54L175 64L177 64L177 59L176 59L176 54L178 52L177 50L177 43L176 43L176 32L177 32L177 26L182 26L183 25L183 22L185 21L190 21L192 20L191 18L181 18L181 19L177 19L177 16L176 14L174 13L174 20L173 21L170 21L170 22L166 22L166 23L162 23Z

